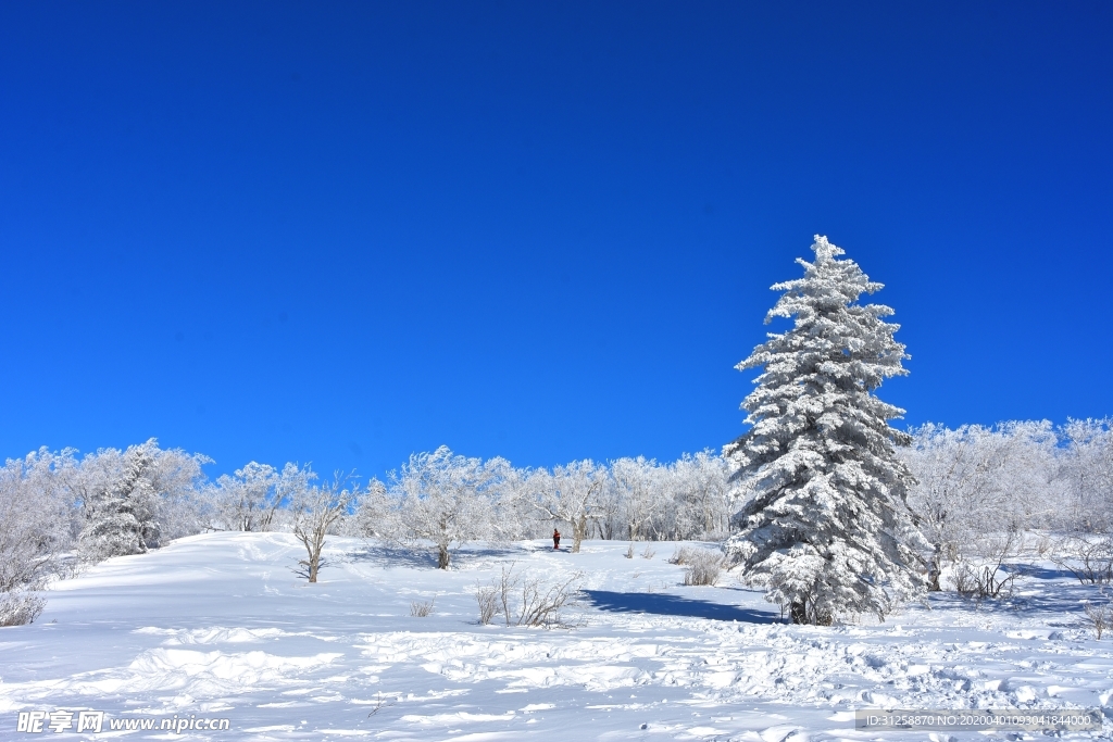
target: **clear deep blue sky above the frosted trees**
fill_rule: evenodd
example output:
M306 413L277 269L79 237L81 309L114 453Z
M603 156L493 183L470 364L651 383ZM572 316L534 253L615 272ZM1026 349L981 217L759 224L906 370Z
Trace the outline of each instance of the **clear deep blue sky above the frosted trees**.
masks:
M1113 3L0 4L0 456L742 432L816 233L907 424L1113 414Z

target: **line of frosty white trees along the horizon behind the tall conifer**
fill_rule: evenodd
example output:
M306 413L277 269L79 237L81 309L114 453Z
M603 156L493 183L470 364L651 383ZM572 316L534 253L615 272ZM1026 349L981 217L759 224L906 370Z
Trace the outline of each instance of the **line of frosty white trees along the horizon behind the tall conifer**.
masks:
M1109 419L929 424L912 429L898 455L916 481L908 504L930 544L933 582L987 533L1113 533ZM755 494L731 482L728 459L707 451L671 463L522 468L441 447L412 455L386 482L363 485L256 462L210 481L203 471L210 463L154 439L85 456L42 448L8 459L0 468L0 592L207 531L304 530L314 512L328 509L326 501L334 511L327 533L430 543L447 566L461 544L535 538L553 527L573 551L593 538L718 542Z

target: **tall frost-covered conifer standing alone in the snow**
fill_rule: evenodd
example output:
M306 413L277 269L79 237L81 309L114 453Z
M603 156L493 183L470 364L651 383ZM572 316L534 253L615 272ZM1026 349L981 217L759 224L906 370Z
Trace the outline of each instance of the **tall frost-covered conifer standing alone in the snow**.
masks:
M775 284L766 316L794 321L768 334L739 370L760 368L742 409L751 428L728 444L752 495L735 515L727 551L747 582L787 610L794 623L829 624L874 613L923 588L913 548L923 546L906 505L913 477L896 455L909 436L889 426L904 410L874 394L907 374L908 356L883 318L859 304L881 288L844 250L816 236L804 277Z

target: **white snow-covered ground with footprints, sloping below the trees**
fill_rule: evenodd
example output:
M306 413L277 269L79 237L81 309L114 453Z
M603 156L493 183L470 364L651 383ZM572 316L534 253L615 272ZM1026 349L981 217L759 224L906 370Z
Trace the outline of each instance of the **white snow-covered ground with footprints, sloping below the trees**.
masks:
M1081 607L1096 591L1050 568L1007 603L942 594L884 624L810 627L785 625L729 574L682 586L676 544L651 558L639 544L632 560L612 542L474 547L446 572L375 543L328 546L315 585L290 570L301 545L276 533L183 538L56 583L35 624L0 629L0 739L939 742L856 731L854 712L1113 702L1113 642ZM476 581L510 562L545 580L582 571L578 625L480 625ZM432 615L410 615L432 598ZM81 709L230 728L17 732L21 711Z

